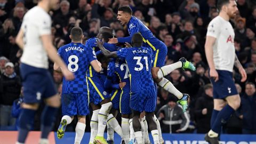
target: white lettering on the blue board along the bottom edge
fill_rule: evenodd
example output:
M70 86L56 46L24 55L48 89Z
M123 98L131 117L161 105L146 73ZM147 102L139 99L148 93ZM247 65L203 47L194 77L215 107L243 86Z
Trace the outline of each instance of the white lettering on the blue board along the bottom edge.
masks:
M166 140L165 141L166 144L209 144L208 142L204 141L204 140ZM256 141L239 141L239 142L235 142L235 141L220 141L220 144L256 144Z

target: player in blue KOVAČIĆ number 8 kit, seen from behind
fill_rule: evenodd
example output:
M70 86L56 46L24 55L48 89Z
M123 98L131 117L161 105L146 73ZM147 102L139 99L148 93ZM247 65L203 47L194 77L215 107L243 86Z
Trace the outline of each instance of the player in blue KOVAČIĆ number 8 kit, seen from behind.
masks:
M96 58L95 52L90 47L85 47L82 44L84 36L81 28L72 28L69 37L71 43L61 46L58 54L68 65L68 69L75 74L76 78L73 81L66 81L63 78L61 95L63 117L61 118L57 136L59 139L63 137L67 124L70 124L74 116L77 115L75 143L80 143L85 130L85 116L90 113L85 73L90 64L97 72L100 72L101 65ZM56 63L54 63L54 70L60 70Z

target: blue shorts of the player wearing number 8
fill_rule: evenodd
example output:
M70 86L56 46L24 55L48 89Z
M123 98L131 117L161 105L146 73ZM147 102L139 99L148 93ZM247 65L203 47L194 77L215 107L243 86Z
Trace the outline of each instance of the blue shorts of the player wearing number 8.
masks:
M85 116L89 115L88 95L82 93L70 93L61 95L62 115Z

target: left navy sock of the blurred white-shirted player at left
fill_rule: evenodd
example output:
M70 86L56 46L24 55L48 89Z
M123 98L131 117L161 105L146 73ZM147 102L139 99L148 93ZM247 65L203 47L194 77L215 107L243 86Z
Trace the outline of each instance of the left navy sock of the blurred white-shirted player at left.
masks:
M28 132L31 130L34 124L36 110L21 109L19 117L19 135L18 142L25 143Z

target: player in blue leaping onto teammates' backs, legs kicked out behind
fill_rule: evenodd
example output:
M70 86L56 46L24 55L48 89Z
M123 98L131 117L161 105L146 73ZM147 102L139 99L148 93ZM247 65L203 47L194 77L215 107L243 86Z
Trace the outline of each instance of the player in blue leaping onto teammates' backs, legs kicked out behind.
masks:
M195 70L194 65L191 62L188 62L185 58L181 58L178 62L173 63L172 65L164 66L164 60L167 54L166 45L153 36L151 31L139 19L132 16L132 10L129 6L121 6L118 8L117 19L121 21L122 25L127 25L130 36L111 38L109 43L131 43L133 34L140 33L143 37L143 46L151 47L154 53L153 67L151 69L154 81L166 91L174 94L179 99L179 103L185 112L188 107L187 101L189 95L182 94L178 91L170 81L164 78L164 76L170 74L171 71L177 68Z

